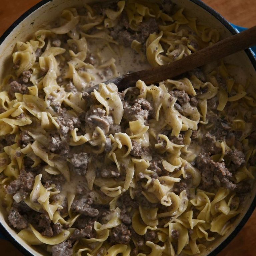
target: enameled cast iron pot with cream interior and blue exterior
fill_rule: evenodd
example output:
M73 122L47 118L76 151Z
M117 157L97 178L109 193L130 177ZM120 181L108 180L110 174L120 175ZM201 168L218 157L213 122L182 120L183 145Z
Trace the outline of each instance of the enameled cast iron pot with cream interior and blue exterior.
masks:
M82 6L85 3L96 2L95 0L43 0L26 13L24 13L0 38L0 81L2 81L5 70L12 65L12 53L17 41L25 41L31 34L42 29L42 24L47 24L60 16L65 8ZM99 2L99 0L97 1ZM200 0L173 0L180 7L189 9L191 16L198 17L199 21L210 27L217 28L222 38L234 35L244 28L236 27L227 22L219 13L211 9ZM252 50L246 50L236 53L226 58L226 61L243 67L243 72L251 77L252 84L256 85L256 59ZM238 74L237 79L243 79L243 74ZM220 239L207 248L204 256L217 255L241 230L246 221L249 219L256 206L256 185L249 199L242 210L239 218L235 221L233 228ZM40 249L27 245L17 233L7 224L5 209L0 204L0 237L11 241L24 255L42 256L44 252ZM245 245L246 246L246 245Z

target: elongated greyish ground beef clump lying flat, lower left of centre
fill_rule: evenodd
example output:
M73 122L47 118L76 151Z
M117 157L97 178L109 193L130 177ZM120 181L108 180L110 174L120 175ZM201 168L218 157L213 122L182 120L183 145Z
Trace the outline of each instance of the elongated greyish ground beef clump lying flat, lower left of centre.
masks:
M71 209L74 212L81 213L86 216L96 217L97 215L99 215L99 211L97 209L92 208L91 204L92 204L91 198L89 199L82 198L74 201L71 205Z

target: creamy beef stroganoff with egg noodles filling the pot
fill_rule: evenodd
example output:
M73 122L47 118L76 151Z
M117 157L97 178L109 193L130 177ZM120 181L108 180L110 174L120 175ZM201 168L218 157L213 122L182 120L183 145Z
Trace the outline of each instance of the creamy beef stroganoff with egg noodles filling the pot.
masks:
M53 256L195 255L251 190L255 93L220 61L158 85L99 84L214 44L166 1L63 10L17 42L0 92L0 197L10 226Z

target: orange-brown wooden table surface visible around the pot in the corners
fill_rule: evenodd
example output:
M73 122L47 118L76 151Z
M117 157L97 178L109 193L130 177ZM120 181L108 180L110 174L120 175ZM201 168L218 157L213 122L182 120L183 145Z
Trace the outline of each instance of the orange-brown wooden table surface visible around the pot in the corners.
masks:
M0 0L0 35L26 10L39 0ZM228 21L244 27L256 25L256 0L203 0L217 10ZM255 256L256 255L256 211L218 256ZM22 256L9 242L0 240L1 256Z

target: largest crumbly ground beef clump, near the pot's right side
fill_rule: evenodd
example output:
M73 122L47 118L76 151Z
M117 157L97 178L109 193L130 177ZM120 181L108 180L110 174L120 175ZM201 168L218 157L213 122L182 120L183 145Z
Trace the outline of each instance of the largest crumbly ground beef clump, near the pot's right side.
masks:
M214 185L214 175L216 175L220 183L234 190L236 185L230 181L232 173L226 168L225 163L214 162L210 158L210 153L200 153L197 157L197 168L201 171L202 179L201 184L203 188L209 188ZM218 186L218 184L216 184Z

